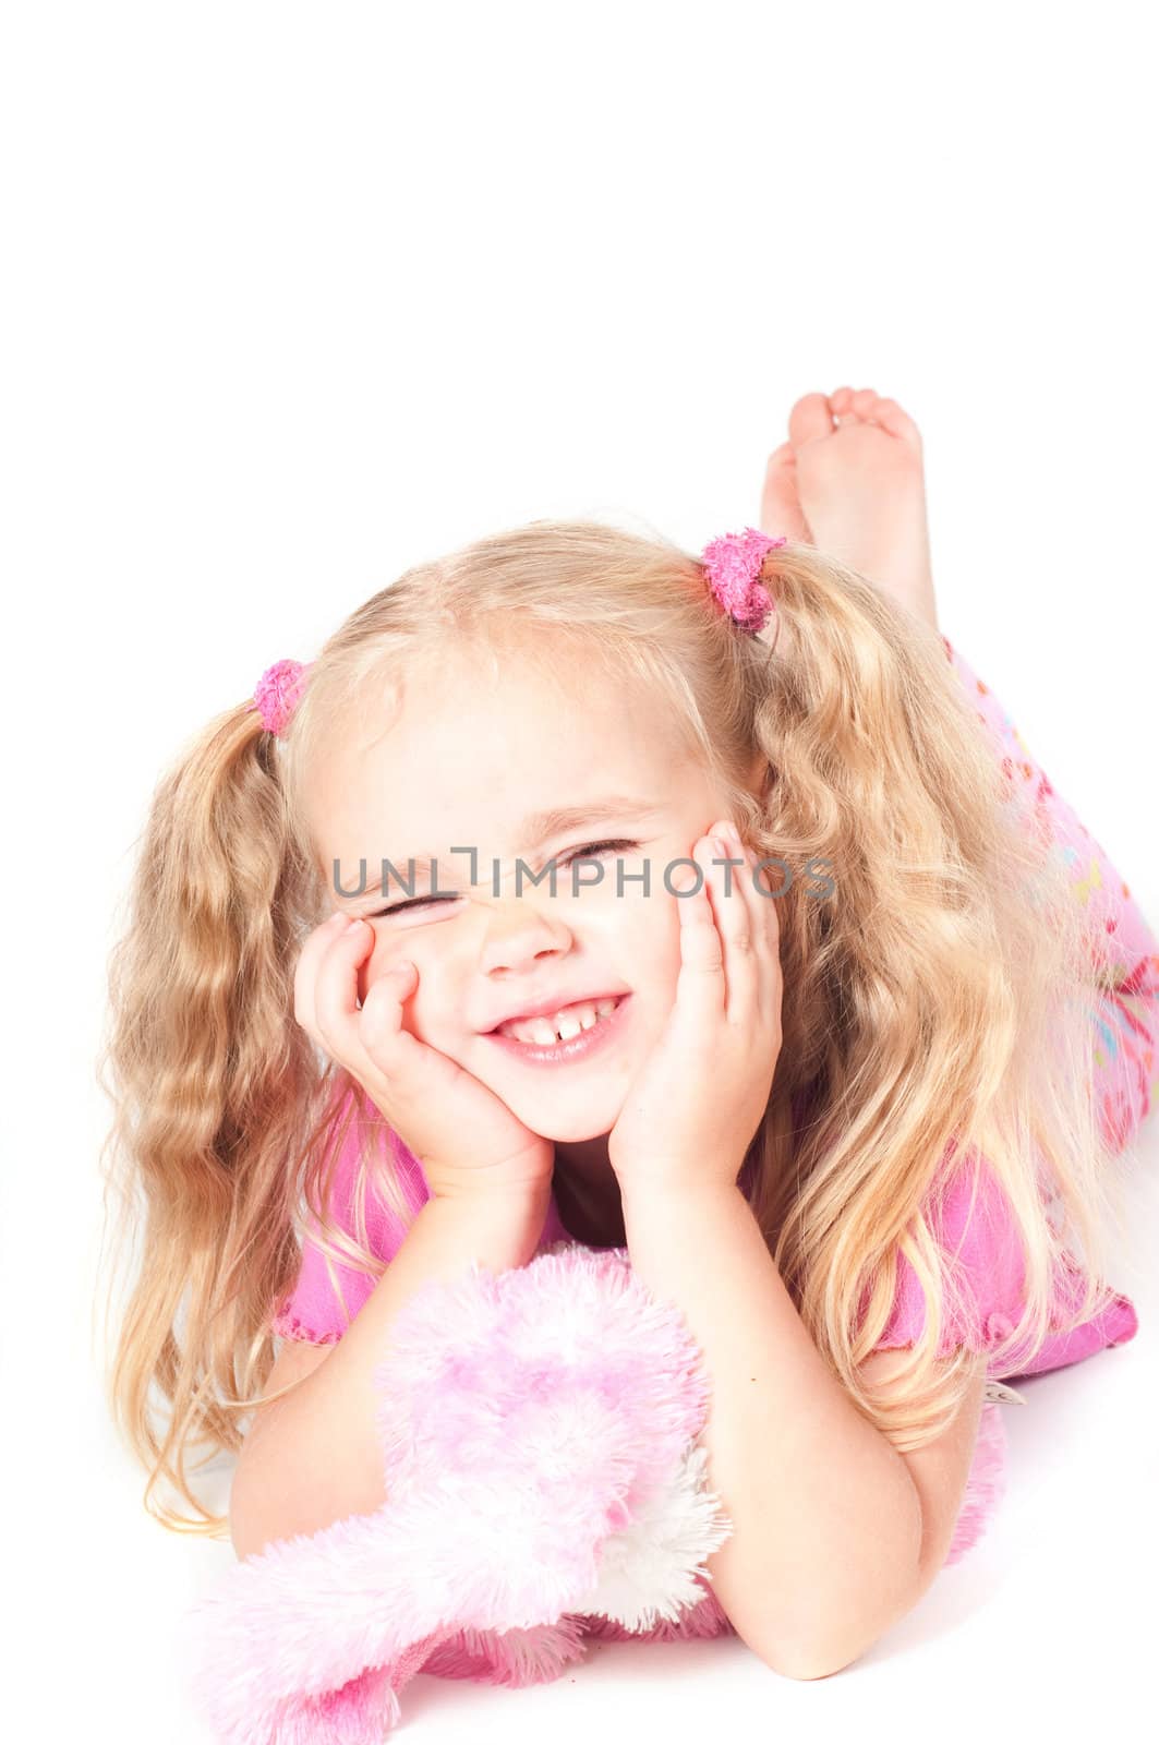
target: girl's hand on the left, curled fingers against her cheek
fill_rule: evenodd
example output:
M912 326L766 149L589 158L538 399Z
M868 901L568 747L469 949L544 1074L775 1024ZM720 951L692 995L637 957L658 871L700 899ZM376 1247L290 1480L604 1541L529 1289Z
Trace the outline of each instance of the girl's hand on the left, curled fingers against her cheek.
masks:
M403 1002L419 986L414 963L386 970L358 1007L358 970L372 944L368 921L347 928L339 914L314 928L293 977L298 1024L358 1080L422 1164L433 1195L550 1194L555 1145L524 1127L473 1073L403 1030Z

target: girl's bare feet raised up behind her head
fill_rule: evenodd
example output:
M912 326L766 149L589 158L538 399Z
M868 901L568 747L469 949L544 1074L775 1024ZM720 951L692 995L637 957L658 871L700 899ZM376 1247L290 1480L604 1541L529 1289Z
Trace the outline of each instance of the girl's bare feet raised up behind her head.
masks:
M937 630L922 436L895 400L798 400L765 471L761 530L827 551Z

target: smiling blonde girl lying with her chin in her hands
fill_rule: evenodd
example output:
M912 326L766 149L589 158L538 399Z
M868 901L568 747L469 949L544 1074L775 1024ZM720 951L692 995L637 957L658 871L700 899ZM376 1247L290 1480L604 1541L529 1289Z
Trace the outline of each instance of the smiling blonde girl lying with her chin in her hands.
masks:
M159 785L110 1396L166 1525L223 1529L194 1443L241 1448L241 1557L381 1508L408 1298L627 1246L712 1379L716 1595L815 1677L946 1560L1000 1379L1133 1337L1101 1281L1159 944L939 633L906 414L805 396L761 518L410 569Z

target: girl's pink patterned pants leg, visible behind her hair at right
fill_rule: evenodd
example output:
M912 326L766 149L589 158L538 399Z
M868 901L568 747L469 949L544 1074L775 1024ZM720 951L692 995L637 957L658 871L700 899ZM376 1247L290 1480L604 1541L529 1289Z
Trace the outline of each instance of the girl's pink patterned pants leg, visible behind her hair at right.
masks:
M1012 782L1033 787L1033 804L1070 866L1070 890L1091 920L1094 1092L1103 1133L1122 1152L1159 1091L1159 939L1100 843L1047 780L990 686L943 637L977 715Z

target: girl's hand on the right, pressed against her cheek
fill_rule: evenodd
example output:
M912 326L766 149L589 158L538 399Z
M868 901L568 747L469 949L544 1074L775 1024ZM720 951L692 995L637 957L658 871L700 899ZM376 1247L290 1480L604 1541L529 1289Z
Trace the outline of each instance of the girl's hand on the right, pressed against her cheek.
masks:
M621 1188L735 1187L780 1054L780 927L775 899L754 886L756 855L728 824L702 836L693 857L702 888L672 899L676 1003L607 1138ZM744 864L712 866L724 859ZM691 892L696 874L679 867L672 885L681 879Z

